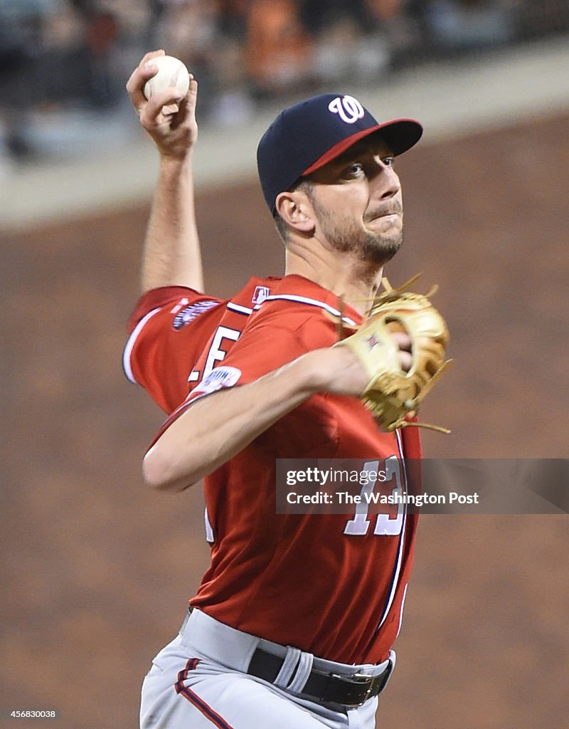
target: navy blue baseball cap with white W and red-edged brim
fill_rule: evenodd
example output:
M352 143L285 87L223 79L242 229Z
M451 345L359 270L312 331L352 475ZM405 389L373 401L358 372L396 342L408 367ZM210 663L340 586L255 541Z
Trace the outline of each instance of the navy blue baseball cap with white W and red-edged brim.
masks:
M280 112L259 141L257 169L272 214L280 192L334 160L359 139L380 132L393 155L419 141L414 119L377 122L353 96L324 93Z

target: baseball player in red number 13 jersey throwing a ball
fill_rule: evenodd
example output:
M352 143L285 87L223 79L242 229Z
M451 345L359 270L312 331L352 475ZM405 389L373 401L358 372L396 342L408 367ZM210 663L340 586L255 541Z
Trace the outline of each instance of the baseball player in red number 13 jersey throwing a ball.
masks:
M168 413L146 482L182 491L204 478L211 565L144 679L141 727L372 729L417 517L277 515L275 459L372 457L404 480L404 457L420 458L417 429L385 432L358 399L369 377L333 346L333 319L361 324L401 245L393 158L422 128L379 123L342 94L279 114L257 161L286 275L252 278L222 301L203 293L195 228L197 83L185 98L146 101L154 55L127 84L160 175L124 365ZM178 112L165 113L171 104ZM409 336L391 338L409 369Z

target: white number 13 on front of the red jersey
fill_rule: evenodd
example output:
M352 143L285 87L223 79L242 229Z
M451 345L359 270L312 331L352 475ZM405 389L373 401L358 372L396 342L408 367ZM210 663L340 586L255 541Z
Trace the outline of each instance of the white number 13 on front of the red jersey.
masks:
M356 513L353 518L346 523L344 528L344 534L352 534L353 536L363 536L367 534L371 520L369 518L369 504L373 503L370 498L374 486L375 480L372 480L371 474L377 474L380 461L366 461L364 467L361 469L362 480L365 480L364 486L361 488L360 496L361 503L356 504ZM368 478L364 478L364 474L369 474ZM397 513L391 514L376 514L375 515L375 526L374 534L380 537L396 537L401 534L403 527L404 515L405 515L405 504L403 499L403 480L401 478L401 463L396 456L390 456L385 459L385 481L395 480L395 485L391 490L391 495L397 504Z

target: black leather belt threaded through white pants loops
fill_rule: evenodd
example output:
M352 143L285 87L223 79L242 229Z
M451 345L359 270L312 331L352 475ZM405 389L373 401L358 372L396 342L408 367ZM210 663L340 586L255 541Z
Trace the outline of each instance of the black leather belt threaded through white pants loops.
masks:
M278 658L276 655L257 648L251 658L247 673L274 683L283 662L284 658ZM313 669L302 689L302 695L324 703L340 703L347 707L361 706L369 698L382 692L392 668L393 663L390 660L385 671L379 676L357 673L353 676L340 676Z

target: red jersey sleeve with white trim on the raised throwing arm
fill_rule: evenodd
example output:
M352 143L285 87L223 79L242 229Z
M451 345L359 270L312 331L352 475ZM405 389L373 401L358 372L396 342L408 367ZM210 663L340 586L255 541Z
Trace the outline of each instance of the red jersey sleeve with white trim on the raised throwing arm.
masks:
M123 369L166 413L187 397L189 373L221 319L222 304L184 286L154 289L138 300Z

